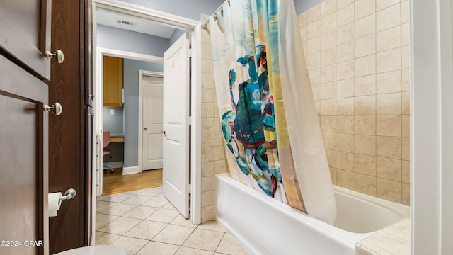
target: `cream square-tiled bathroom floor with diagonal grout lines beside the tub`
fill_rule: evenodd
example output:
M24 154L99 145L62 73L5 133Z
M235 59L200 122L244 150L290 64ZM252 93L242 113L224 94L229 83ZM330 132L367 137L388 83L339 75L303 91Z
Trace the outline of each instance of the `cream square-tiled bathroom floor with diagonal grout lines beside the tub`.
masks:
M122 246L127 255L248 254L217 222L186 220L162 187L98 197L96 244Z

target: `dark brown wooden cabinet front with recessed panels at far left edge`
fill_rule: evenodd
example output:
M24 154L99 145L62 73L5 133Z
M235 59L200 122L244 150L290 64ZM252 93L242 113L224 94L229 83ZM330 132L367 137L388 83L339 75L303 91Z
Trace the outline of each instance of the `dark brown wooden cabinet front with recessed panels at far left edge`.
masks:
M0 254L48 254L50 2L2 0L0 23Z

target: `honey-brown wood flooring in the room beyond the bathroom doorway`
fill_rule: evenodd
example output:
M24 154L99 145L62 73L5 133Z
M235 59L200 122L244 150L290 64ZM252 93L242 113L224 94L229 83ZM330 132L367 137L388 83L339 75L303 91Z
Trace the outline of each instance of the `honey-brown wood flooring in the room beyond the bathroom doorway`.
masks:
M121 169L113 170L114 174L110 174L110 170L103 174L103 195L162 186L162 169L127 175L122 175Z

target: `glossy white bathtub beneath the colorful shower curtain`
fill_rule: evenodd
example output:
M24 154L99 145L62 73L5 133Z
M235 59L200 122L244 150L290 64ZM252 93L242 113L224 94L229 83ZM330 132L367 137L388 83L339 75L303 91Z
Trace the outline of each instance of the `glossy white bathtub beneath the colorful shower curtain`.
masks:
M354 254L373 232L409 216L406 205L334 186L332 225L269 198L228 174L216 176L216 217L251 254Z

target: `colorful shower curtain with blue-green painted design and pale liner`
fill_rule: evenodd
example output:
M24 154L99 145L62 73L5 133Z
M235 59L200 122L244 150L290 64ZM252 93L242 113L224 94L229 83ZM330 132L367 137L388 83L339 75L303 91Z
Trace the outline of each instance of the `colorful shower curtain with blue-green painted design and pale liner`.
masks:
M231 176L333 223L336 203L294 4L231 0L208 30Z

